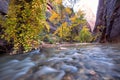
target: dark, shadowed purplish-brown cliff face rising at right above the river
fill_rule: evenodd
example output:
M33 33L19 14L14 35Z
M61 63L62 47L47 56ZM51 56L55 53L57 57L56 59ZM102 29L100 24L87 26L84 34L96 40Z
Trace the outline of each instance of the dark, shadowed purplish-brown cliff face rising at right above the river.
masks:
M103 28L100 42L120 42L120 0L99 0L95 26Z

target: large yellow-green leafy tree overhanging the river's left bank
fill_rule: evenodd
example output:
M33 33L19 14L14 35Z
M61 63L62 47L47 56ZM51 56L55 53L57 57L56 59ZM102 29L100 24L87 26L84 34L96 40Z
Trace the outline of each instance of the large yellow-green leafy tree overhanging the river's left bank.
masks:
M45 21L45 0L11 0L5 23L2 23L7 41L14 42L17 51L28 51L39 44L39 34L49 31Z

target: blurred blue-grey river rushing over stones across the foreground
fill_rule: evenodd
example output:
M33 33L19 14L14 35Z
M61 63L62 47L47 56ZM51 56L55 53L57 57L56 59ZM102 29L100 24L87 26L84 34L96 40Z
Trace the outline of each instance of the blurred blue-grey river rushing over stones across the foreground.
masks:
M0 57L0 80L120 80L120 44L45 48Z

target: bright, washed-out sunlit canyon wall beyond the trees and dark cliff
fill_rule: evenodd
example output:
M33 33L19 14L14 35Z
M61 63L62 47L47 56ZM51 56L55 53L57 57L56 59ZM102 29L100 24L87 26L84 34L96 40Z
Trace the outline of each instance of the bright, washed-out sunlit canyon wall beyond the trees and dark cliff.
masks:
M93 31L96 21L96 12L98 0L63 0L63 5L73 8L74 12L82 10L85 13L85 19Z

